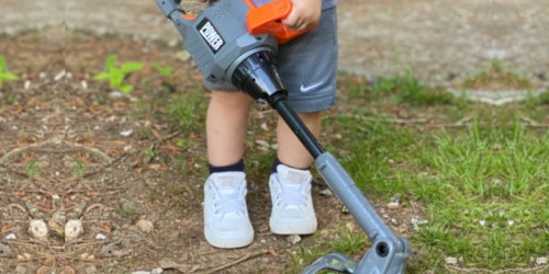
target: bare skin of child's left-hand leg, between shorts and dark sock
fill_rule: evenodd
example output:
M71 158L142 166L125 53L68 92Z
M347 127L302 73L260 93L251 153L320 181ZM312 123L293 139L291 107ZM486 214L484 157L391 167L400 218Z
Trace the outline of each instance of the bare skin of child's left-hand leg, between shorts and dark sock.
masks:
M243 92L212 92L206 117L210 164L225 167L243 158L248 114L253 102Z

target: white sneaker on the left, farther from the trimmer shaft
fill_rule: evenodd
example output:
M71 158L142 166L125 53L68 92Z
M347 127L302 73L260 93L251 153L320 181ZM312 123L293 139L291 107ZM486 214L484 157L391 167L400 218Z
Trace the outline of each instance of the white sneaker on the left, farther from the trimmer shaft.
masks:
M242 248L254 240L246 207L244 172L211 174L204 185L204 236L216 248Z

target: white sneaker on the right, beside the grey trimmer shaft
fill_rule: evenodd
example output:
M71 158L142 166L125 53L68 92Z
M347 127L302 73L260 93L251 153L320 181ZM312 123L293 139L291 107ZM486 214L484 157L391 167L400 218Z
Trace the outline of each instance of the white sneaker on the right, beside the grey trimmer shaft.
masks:
M279 164L269 180L272 213L271 231L277 235L311 235L316 231L316 216L311 196L313 176L307 170Z

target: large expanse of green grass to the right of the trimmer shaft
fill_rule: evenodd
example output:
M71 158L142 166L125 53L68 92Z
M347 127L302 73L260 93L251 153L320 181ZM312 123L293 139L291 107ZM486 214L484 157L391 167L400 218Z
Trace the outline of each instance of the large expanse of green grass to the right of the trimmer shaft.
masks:
M549 134L483 118L463 130L426 134L357 115L327 123L352 140L339 144L339 158L367 196L400 193L404 203L427 206L428 224L410 239L427 252L426 269L444 271L447 256L461 258L466 269L526 266L549 250ZM330 251L362 255L365 246L340 237Z

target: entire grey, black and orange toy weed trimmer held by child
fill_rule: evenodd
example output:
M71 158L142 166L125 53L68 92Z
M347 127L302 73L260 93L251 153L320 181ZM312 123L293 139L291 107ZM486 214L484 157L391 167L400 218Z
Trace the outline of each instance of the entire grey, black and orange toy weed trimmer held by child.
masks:
M323 269L347 273L404 273L410 244L379 217L339 162L324 151L313 134L285 102L288 92L278 76L278 44L302 34L281 20L292 9L291 0L274 0L255 7L250 0L211 1L200 14L187 14L180 0L157 0L164 14L183 36L184 48L214 83L231 82L256 101L268 103L290 126L315 159L316 168L334 193L366 231L372 248L359 262L332 253L304 273Z

